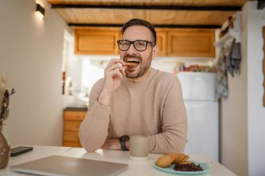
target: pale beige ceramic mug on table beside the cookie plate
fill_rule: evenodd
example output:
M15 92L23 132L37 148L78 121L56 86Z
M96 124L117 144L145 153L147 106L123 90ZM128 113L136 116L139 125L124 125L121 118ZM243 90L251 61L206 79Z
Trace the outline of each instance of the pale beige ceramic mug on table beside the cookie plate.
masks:
M130 136L130 152L129 157L134 161L146 161L148 160L149 152L153 151L156 147L155 143L153 150L149 150L149 138L148 136Z

